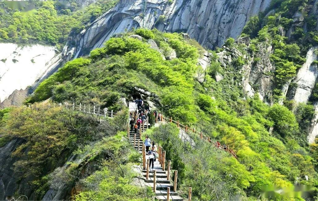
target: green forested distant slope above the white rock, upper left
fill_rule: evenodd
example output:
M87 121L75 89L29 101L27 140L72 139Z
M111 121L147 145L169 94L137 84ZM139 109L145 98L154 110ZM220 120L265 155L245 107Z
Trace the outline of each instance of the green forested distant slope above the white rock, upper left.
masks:
M79 33L84 25L112 8L117 0L99 0L85 8L79 1L1 0L0 41L19 44L44 43L61 49L68 35Z

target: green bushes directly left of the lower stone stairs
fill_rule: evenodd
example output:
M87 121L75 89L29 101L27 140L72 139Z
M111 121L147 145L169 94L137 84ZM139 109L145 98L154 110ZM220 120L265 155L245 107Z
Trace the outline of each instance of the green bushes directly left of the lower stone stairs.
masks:
M104 152L109 159L101 162L100 170L79 181L84 189L75 196L75 200L151 200L153 193L150 187L141 188L133 184L133 178L138 175L133 172L132 163L127 163L127 160L136 151L127 141L121 140L125 134L122 132L103 139L94 146L95 150L90 150L91 153L97 150ZM131 162L140 162L137 155L137 160Z

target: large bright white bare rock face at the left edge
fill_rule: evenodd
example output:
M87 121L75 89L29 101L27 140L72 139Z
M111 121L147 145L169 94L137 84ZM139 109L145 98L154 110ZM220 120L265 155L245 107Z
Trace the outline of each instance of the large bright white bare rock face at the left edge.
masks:
M0 102L14 90L33 85L51 67L49 63L55 54L52 46L17 47L13 43L0 43L0 60L6 59L0 61Z

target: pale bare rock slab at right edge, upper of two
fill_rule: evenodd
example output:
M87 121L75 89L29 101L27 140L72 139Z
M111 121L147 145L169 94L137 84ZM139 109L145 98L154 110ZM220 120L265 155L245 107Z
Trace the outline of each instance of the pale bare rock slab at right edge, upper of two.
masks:
M307 52L306 62L299 69L297 77L294 80L298 85L294 95L294 100L296 102L307 102L311 95L311 91L315 86L315 81L318 77L318 69L311 65L311 63L317 59L317 55L314 54L314 49L315 48L311 48Z

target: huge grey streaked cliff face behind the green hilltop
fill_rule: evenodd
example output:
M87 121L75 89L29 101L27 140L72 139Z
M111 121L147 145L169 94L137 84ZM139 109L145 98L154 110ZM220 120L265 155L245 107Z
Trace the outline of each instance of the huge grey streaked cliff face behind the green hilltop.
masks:
M250 16L266 9L271 0L148 0L144 27L186 32L213 49L227 37L236 38ZM121 0L73 39L75 57L103 46L111 36L142 26L142 0Z

